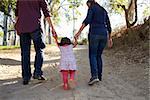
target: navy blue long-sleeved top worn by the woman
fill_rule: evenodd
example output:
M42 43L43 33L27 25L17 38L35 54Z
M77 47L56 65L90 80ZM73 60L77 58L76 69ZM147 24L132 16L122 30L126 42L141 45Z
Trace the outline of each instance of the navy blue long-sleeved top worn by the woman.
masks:
M107 11L98 3L88 9L87 16L83 23L90 25L90 34L107 35L107 33L111 33L111 25Z

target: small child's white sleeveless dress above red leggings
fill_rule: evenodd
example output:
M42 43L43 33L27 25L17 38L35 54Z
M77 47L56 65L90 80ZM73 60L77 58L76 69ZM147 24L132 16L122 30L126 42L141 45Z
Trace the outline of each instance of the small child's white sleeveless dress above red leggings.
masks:
M61 52L60 70L77 70L73 45L59 46Z

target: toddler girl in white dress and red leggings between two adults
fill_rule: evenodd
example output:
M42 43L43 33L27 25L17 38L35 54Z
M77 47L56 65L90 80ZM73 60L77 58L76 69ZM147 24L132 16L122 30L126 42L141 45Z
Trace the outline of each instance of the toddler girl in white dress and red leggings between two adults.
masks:
M61 52L59 67L63 79L63 88L64 90L68 90L69 88L75 87L74 78L77 70L76 59L73 53L73 47L75 47L75 45L71 43L71 40L67 37L62 38L60 43L58 43L57 38L55 38L55 40Z

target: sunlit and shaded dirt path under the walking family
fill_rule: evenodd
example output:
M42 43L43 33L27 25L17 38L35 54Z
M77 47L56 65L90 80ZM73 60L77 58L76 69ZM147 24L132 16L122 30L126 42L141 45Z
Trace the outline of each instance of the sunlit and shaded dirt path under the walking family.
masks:
M32 52L32 67L34 54ZM0 52L0 100L149 100L147 63L134 63L126 60L121 51L115 54L113 50L105 50L103 81L89 87L87 47L78 47L75 54L79 66L78 86L64 91L55 66L60 58L56 47L45 50L43 70L48 81L27 86L23 86L21 80L20 50Z

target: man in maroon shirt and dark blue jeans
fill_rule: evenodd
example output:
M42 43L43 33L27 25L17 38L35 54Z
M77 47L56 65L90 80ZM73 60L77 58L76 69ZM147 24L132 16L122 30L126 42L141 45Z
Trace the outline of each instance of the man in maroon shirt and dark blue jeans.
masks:
M45 48L42 39L43 33L40 26L41 10L51 27L53 36L57 37L50 19L46 0L17 0L15 28L20 36L22 78L24 85L27 85L32 77L30 67L31 40L33 40L36 52L33 78L45 80L41 70L43 64L43 48Z

